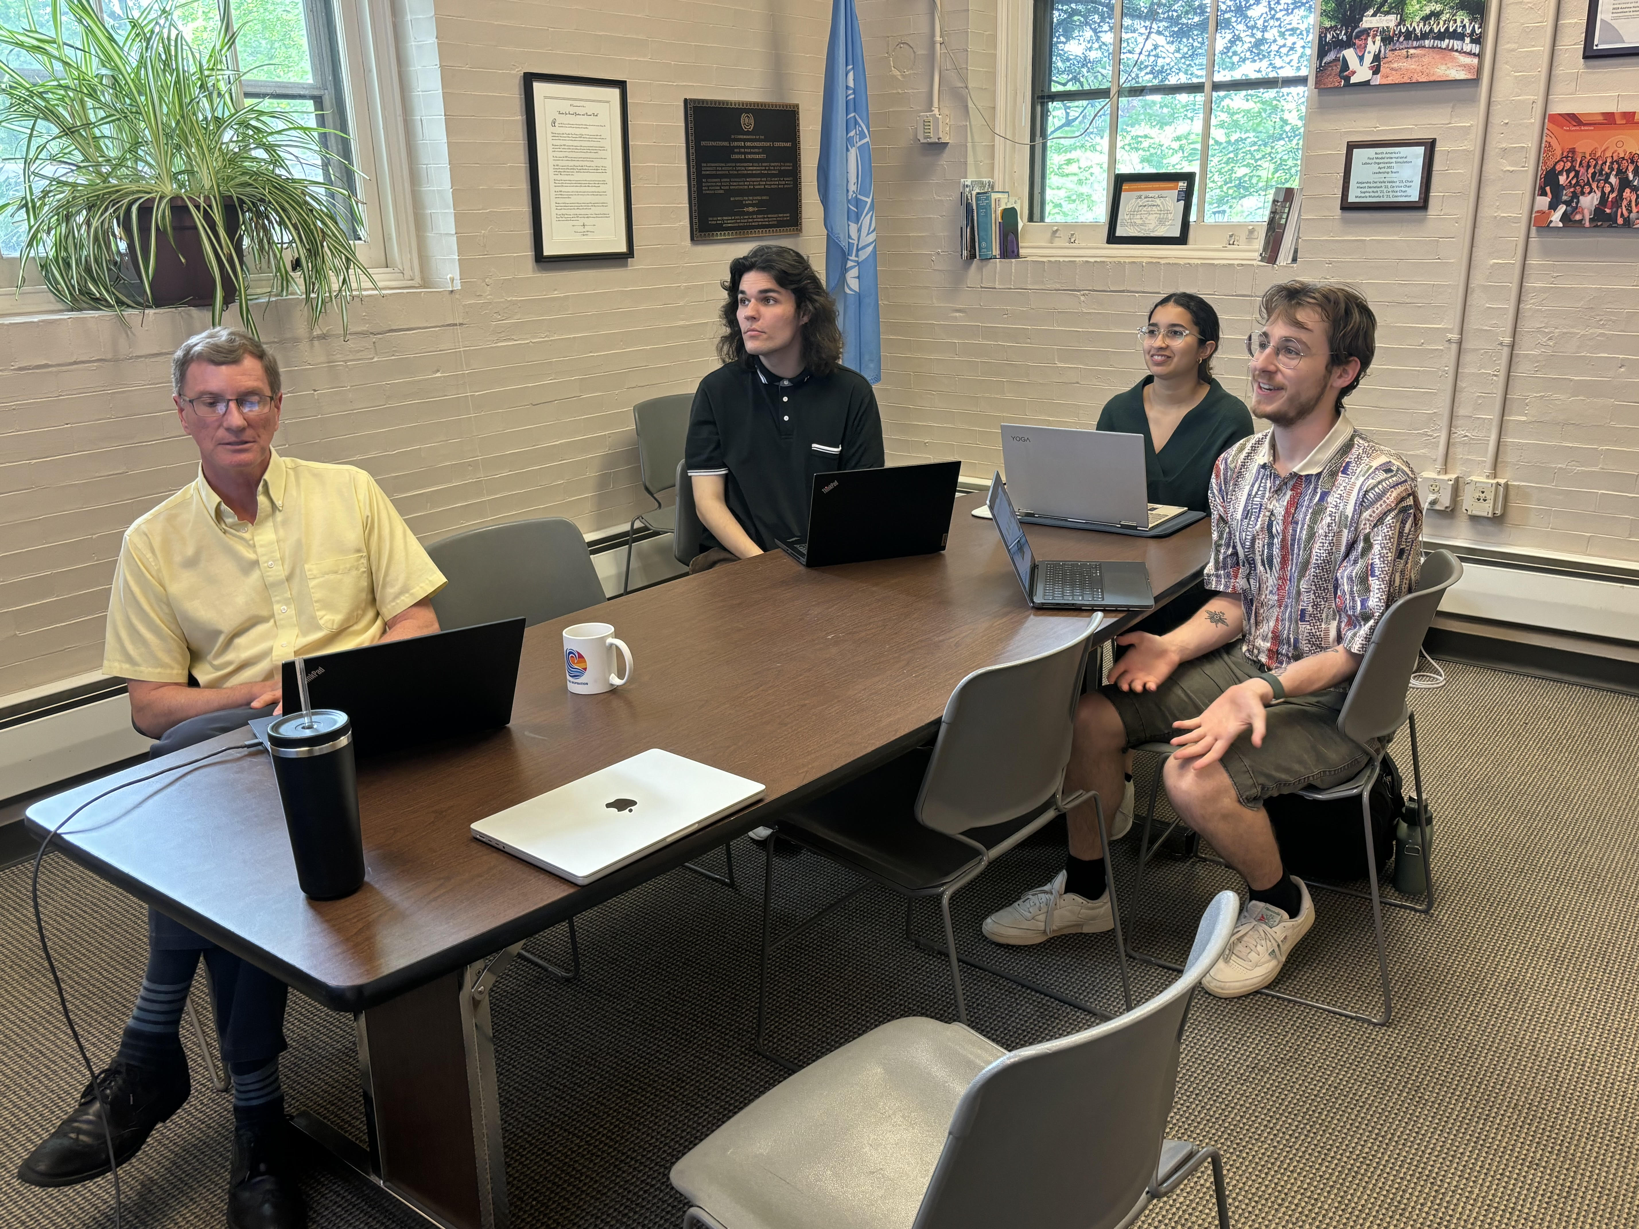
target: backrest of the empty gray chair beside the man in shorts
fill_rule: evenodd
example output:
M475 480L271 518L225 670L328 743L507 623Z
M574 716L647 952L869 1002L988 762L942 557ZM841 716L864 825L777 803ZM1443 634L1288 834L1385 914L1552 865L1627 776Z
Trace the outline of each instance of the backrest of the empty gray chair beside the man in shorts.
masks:
M938 832L1000 824L1059 791L1100 623L1095 614L1069 644L974 670L956 685L916 795L923 824Z

